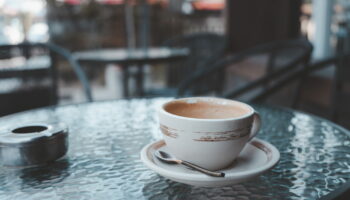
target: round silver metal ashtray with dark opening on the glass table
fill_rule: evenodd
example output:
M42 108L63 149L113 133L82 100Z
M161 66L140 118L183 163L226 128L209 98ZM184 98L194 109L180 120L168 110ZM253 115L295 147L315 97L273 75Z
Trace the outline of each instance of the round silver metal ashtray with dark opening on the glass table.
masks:
M6 166L40 165L68 150L68 128L62 123L34 123L0 132L0 162Z

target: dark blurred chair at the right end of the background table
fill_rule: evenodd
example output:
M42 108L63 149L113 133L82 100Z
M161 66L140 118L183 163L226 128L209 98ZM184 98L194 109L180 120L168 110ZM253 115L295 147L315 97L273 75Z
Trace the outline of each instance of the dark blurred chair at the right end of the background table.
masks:
M214 64L226 50L226 39L216 33L194 33L170 39L164 46L188 48L190 55L186 59L168 63L166 85L164 89L151 89L147 96L175 96L178 85L201 70Z

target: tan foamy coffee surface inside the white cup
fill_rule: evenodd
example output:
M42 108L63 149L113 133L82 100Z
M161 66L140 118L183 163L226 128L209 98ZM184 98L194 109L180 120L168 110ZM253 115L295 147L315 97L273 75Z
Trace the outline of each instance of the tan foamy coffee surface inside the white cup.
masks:
M164 109L174 115L198 119L236 118L250 112L250 109L244 105L219 100L218 102L205 100L173 101L165 105Z

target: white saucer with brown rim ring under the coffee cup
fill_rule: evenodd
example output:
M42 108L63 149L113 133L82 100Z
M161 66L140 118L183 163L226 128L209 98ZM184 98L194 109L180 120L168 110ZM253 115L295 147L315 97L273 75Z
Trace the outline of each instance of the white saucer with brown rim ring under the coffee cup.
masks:
M182 165L166 164L154 157L157 149L167 151L164 140L148 144L141 151L142 162L170 180L194 186L219 187L247 181L273 168L280 153L268 142L254 139L248 143L231 167L221 170L225 177L211 177Z

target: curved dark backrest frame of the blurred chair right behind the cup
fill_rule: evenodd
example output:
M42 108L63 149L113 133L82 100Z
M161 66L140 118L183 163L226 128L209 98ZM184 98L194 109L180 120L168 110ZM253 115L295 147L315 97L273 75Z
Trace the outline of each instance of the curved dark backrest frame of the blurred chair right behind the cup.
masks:
M232 55L227 55L218 60L214 65L203 68L202 71L195 73L182 82L178 89L178 96L214 94L226 98L237 98L238 96L251 92L253 88L264 90L269 84L272 84L275 78L282 78L292 71L304 68L309 62L311 52L312 45L304 39L298 39L263 44ZM266 57L265 60L267 61L265 61L265 66L263 66L266 72L255 80L250 80L248 83L238 88L234 87L232 89L227 87L226 91L223 91L220 87L224 85L223 82L227 77L220 79L220 82L205 81L208 77L215 76L216 73L222 73L222 71L228 74L225 70L232 66L245 69L244 66L235 66L234 64L241 63L246 59L259 55L264 55ZM254 74L256 72L249 71L248 73ZM221 86L214 87L215 85ZM253 98L253 96L250 98Z

